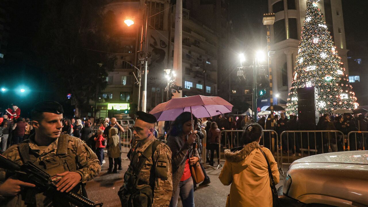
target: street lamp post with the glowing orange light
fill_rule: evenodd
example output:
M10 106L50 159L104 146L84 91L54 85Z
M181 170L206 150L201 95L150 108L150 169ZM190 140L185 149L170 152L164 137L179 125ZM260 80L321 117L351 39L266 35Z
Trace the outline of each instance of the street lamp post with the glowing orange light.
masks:
M148 43L147 43L147 26L148 26L148 5L146 4L146 12L145 12L145 26L143 24L143 19L142 19L142 32L141 32L141 50L138 52L141 52L142 54L142 49L143 49L143 41L145 44L145 49L144 49L144 53L143 53L143 58L141 59L141 61L144 61L145 64L145 68L144 68L144 89L143 89L143 94L142 94L142 111L146 112L147 110L147 68L148 68L148 58L150 56L150 53L148 52ZM134 18L133 17L127 17L124 20L124 23L130 27L131 25L134 24ZM145 29L144 29L145 28ZM145 31L145 32L144 32ZM144 38L144 40L143 40ZM140 71L142 71L142 64L140 64ZM139 81L139 97L140 97L140 81ZM139 102L138 102L138 110L139 110Z

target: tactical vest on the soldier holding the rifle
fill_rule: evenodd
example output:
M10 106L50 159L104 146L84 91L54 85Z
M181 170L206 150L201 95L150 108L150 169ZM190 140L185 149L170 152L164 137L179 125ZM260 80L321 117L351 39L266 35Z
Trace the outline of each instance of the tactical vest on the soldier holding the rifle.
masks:
M38 166L43 171L50 174L50 176L55 176L58 173L63 173L66 171L77 171L77 163L75 161L76 155L68 150L69 135L60 134L57 142L56 154L53 156L45 156L42 160L39 159L38 154L32 152L29 148L29 140L24 140L22 143L18 144L18 152L23 163L28 161L32 162L34 165ZM81 185L77 185L72 190L73 192L78 192L81 189ZM28 197L35 196L35 204L25 204L25 200ZM34 192L32 188L24 190L20 196L15 197L7 206L11 207L24 207L24 206L53 206L53 207L68 207L70 204L65 200L60 200L56 196L53 198L46 197L42 193Z

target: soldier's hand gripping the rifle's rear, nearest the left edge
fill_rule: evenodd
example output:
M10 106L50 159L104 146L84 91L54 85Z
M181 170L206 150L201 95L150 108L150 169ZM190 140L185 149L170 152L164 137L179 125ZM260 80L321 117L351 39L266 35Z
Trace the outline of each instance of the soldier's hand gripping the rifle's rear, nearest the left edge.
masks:
M16 196L21 192L21 187L35 187L32 183L26 183L21 180L17 180L13 177L5 180L3 184L0 185L0 195L4 197Z

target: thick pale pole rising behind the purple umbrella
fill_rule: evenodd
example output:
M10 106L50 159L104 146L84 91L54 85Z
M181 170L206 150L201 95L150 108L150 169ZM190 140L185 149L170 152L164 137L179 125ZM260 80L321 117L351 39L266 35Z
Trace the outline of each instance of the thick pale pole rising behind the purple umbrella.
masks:
M174 60L173 69L176 71L177 85L183 84L182 67L182 48L183 48L183 0L176 0L175 12L175 35L174 35ZM181 97L181 94L175 93L175 98Z

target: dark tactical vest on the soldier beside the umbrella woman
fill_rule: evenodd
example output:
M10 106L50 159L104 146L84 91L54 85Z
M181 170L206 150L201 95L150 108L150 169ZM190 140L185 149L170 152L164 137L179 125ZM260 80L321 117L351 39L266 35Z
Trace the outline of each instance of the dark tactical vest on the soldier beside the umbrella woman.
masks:
M146 150L137 159L134 159L137 148L132 152L131 161L127 172L124 174L124 185L120 188L118 195L120 197L122 207L150 207L153 201L153 189L155 187L155 161L153 154L157 146L162 143L160 140L153 141ZM149 157L152 157L152 167L149 175L149 185L142 185L138 189L140 172Z

